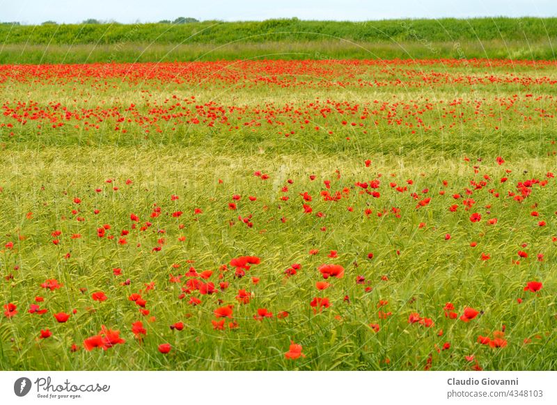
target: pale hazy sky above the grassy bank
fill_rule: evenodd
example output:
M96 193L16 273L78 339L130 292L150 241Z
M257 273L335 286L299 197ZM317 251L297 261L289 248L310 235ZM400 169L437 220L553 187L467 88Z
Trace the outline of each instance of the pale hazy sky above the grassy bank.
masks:
M557 0L0 0L0 21L79 23L95 18L121 23L269 18L363 21L393 18L552 17Z

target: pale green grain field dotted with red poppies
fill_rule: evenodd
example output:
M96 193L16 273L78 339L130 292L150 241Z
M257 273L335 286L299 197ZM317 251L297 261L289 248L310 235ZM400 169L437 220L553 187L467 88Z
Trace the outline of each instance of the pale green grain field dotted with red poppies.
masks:
M555 370L555 63L320 55L1 65L1 369Z

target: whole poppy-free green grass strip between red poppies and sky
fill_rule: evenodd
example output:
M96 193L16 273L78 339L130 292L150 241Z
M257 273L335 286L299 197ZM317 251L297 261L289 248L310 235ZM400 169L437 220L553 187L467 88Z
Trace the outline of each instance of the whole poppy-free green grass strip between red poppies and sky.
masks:
M238 59L554 60L557 18L269 19L191 24L0 24L0 63Z

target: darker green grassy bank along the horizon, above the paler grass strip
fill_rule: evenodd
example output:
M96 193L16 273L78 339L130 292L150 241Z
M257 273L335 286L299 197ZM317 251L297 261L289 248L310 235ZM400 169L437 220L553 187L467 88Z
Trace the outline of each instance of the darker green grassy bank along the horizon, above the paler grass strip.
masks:
M557 36L557 17L496 17L473 19L387 19L368 22L268 19L262 22L207 21L191 24L62 24L0 25L11 44L115 44L119 42L183 42L226 44L236 40L268 42L320 40L354 41L544 40Z

